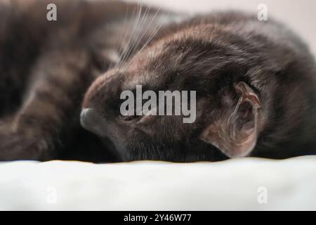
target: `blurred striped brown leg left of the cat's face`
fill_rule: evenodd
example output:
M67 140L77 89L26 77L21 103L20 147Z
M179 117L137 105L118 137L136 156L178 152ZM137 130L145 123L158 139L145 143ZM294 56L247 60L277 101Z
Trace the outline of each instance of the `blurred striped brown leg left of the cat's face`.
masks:
M91 83L85 51L52 52L32 72L25 100L0 124L0 160L50 160L79 125L81 98Z

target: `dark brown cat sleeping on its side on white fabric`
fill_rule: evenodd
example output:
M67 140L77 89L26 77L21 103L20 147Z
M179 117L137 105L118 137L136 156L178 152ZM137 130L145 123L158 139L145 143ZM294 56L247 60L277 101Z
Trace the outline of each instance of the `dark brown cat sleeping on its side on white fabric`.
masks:
M57 21L46 20L52 2ZM4 3L0 160L192 162L316 153L315 60L282 24L235 11L192 17L120 1ZM122 91L137 85L196 91L195 122L121 115Z

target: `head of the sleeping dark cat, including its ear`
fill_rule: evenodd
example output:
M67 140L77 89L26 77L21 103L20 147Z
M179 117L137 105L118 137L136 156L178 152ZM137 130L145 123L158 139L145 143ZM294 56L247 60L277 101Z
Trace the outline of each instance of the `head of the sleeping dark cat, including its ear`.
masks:
M190 162L249 155L262 117L258 94L243 78L249 68L211 41L180 37L157 41L99 77L85 96L81 124L110 140L123 160ZM150 90L157 98L159 91L187 91L190 115L181 111L183 96L180 105L173 102L171 115L122 113L127 99L122 93L133 93L136 105L140 86L142 94ZM141 105L148 99L140 99ZM165 104L157 101L157 112Z

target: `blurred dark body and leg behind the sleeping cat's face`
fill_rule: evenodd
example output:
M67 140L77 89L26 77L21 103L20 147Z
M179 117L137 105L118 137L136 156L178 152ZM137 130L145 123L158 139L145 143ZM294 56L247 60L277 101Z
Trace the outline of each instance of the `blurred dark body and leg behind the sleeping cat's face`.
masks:
M57 21L46 18L51 3ZM107 160L79 124L84 93L152 38L165 16L121 1L1 2L0 159Z

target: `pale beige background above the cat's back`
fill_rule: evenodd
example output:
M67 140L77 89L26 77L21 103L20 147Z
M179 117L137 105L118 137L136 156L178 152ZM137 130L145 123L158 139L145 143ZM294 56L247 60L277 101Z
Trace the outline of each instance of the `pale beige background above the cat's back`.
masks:
M133 0L127 0L133 1ZM135 1L135 0L134 0ZM217 9L241 9L257 13L258 4L268 6L268 15L286 23L308 42L316 55L315 0L137 0L178 11L203 13Z

